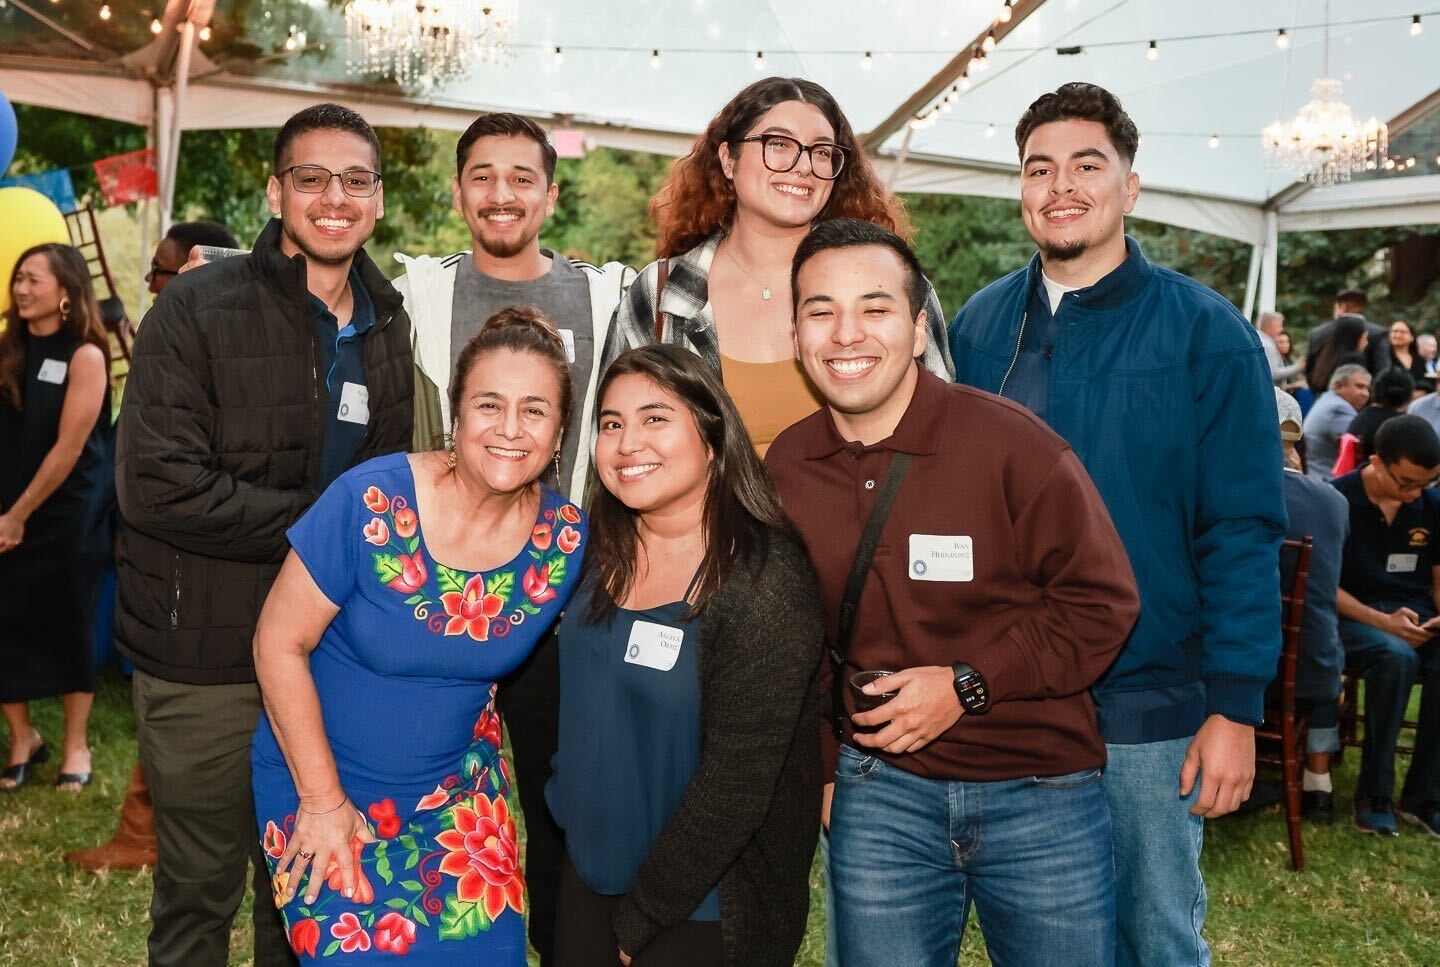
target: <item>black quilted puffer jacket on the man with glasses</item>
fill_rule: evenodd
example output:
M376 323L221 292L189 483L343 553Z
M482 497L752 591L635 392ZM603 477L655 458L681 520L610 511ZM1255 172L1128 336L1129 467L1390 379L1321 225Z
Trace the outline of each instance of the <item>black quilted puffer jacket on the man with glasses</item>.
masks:
M145 314L120 412L121 652L167 681L255 681L251 639L318 496L321 347L305 260L271 220L249 256L174 279ZM370 426L356 462L410 443L410 321L364 250Z

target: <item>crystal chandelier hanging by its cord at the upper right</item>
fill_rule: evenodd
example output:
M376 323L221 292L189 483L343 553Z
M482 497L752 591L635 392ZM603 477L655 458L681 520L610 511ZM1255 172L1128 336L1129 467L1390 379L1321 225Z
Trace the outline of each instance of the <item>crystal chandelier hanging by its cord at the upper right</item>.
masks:
M1331 72L1331 16L1325 4L1325 75L1310 83L1310 102L1290 121L1274 121L1261 132L1266 165L1290 168L1318 189L1375 170L1385 157L1390 130L1371 118L1359 121L1341 96Z

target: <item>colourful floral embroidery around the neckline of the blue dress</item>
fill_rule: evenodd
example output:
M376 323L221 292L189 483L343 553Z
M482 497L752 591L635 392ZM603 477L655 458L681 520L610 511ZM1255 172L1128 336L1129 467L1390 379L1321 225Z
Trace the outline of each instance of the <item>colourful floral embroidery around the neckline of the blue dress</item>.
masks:
M374 545L370 557L376 578L406 594L405 603L415 609L415 619L438 635L469 635L477 642L504 637L511 627L539 614L541 604L554 600L569 557L580 547L580 531L572 527L580 522L579 508L573 504L560 505L559 512L546 508L530 532L527 553L533 563L524 573L498 568L467 574L433 564L432 587L431 563L420 547L420 521L405 495L392 496L372 485L360 501L373 514L360 534ZM516 594L517 577L520 594Z

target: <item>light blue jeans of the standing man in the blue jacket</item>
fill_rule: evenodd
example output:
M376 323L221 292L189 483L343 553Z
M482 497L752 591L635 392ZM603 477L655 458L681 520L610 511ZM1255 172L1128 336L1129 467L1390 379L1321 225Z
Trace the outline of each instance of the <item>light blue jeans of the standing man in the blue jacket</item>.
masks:
M1200 797L1200 780L1189 796L1179 794L1189 741L1106 745L1110 758L1103 786L1115 827L1119 967L1210 964L1210 947L1200 935L1208 902L1200 875L1205 820L1189 813Z

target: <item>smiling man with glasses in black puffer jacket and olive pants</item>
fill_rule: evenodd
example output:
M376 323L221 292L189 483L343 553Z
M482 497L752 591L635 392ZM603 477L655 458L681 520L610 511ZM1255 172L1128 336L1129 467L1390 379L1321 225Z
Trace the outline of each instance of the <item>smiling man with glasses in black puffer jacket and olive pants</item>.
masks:
M410 443L410 324L361 248L384 201L379 154L354 111L307 108L275 138L275 217L249 253L176 278L189 246L157 252L167 281L135 341L115 468L118 637L158 846L151 964L228 961L252 862L255 964L294 963L251 794L251 643L287 528L346 469Z

